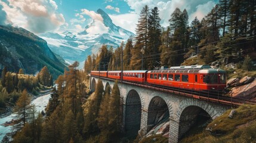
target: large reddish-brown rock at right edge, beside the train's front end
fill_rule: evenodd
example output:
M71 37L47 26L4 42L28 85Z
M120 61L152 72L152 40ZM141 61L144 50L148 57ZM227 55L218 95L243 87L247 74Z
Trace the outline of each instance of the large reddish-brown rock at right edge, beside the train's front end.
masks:
M256 99L256 80L254 79L249 84L232 88L230 96L245 100Z

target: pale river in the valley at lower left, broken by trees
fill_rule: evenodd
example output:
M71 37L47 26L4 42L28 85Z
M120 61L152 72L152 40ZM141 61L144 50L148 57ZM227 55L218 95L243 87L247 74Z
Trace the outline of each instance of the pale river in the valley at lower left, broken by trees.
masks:
M47 106L50 94L43 95L41 97L36 98L31 103L35 105L36 111L42 111ZM0 125L2 123L5 123L7 121L11 121L11 119L14 119L15 114L11 114L10 116L4 117L0 119ZM4 138L5 134L11 132L11 126L0 126L0 141L2 141L2 138Z

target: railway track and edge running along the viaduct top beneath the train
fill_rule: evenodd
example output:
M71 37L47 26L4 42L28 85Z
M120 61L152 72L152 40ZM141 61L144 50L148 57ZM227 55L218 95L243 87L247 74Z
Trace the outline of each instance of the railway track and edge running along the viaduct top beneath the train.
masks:
M98 77L94 75L92 76ZM112 81L116 80L116 79L110 79L107 77L100 77L100 79L106 79L106 80L112 80ZM118 82L121 82L121 80L118 80ZM157 91L168 92L171 94L183 95L186 97L192 97L192 98L205 100L205 101L218 102L220 104L226 104L231 106L238 106L242 104L256 105L256 101L254 100L245 100L245 99L234 98L234 97L226 97L226 96L223 96L223 92L220 92L220 91L195 91L193 89L189 90L189 89L182 89L182 88L174 88L168 85L166 86L153 85L149 83L134 82L129 80L123 80L123 83L127 83L129 85L141 86L143 88L154 89Z

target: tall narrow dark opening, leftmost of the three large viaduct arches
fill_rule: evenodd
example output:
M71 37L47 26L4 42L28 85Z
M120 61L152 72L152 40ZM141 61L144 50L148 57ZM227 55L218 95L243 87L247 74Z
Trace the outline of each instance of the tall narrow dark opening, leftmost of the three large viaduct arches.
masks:
M141 100L138 92L132 89L125 101L125 132L130 138L135 138L140 130Z

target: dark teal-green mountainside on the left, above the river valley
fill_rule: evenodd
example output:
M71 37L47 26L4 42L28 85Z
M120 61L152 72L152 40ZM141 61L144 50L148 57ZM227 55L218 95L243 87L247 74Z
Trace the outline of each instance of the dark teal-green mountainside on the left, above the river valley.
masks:
M6 66L10 71L23 69L27 74L35 74L47 66L54 79L64 71L64 64L47 42L22 28L0 26L0 51L0 69Z

